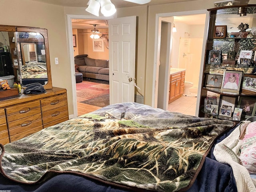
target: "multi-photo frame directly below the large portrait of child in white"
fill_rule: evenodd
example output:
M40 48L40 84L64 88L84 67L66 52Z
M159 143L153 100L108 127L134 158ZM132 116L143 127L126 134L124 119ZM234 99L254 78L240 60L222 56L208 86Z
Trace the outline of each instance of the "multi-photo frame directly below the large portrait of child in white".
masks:
M235 108L235 103L235 97L222 96L219 114L221 116L231 117Z

